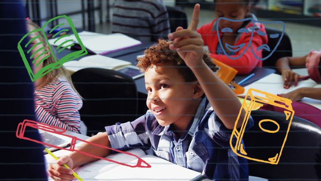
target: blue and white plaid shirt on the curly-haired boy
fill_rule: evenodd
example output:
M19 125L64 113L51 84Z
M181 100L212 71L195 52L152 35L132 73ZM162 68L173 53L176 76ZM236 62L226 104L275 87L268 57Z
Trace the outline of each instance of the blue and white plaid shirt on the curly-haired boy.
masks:
M250 118L247 129L252 126ZM150 111L133 122L107 126L106 131L112 148L151 147L154 155L202 172L207 178L248 180L247 160L231 150L232 131L224 127L206 98L179 139L173 126L159 125Z

